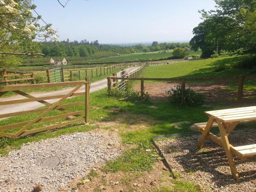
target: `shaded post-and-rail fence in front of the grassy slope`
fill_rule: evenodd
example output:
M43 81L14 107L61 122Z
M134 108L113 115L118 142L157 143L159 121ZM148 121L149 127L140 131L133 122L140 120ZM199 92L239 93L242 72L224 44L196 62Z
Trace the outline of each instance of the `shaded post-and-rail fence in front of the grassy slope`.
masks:
M224 77L191 77L191 78L138 78L138 77L108 77L108 91L111 91L112 87L117 87L114 86L118 80L122 81L135 81L139 80L140 81L140 96L143 98L144 97L144 81L146 80L152 80L152 81L173 81L181 82L181 89L182 93L186 89L186 82L187 81L221 81L221 80L238 80L238 94L237 94L237 102L238 105L242 104L242 99L243 99L243 88L244 88L244 80L251 80L251 79L256 79L255 75L252 76L224 76ZM182 94L181 93L181 94ZM182 96L181 96L182 97Z

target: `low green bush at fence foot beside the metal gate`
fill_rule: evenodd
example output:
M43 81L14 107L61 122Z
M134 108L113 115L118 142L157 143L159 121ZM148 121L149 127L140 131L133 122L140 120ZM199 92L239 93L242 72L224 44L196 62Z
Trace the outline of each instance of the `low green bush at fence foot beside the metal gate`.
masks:
M132 89L131 83L126 83L126 87L124 90L112 89L109 92L109 96L116 98L126 98L128 101L141 100L140 93ZM148 95L148 93L145 93L143 98L144 100L148 100L150 96Z

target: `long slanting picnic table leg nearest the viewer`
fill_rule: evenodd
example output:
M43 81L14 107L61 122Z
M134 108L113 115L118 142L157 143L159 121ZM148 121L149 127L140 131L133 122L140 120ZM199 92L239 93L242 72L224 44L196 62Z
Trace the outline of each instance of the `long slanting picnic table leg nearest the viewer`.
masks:
M227 156L227 160L228 160L228 164L229 164L232 176L235 180L239 180L237 167L236 167L236 164L234 163L234 158L233 158L233 154L231 152L230 144L229 144L229 141L227 138L228 134L225 130L225 125L224 125L224 123L218 123L218 124L219 124L219 130L220 130L220 134L221 134L223 147L226 152L226 156Z

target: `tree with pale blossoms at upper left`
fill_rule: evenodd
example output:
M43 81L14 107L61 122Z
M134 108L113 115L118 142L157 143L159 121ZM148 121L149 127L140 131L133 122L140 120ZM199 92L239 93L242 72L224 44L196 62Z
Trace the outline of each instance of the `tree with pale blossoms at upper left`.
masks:
M37 54L38 42L34 39L56 39L50 24L39 25L40 15L33 16L36 6L28 0L0 0L0 65L18 65L17 55ZM35 12L37 13L37 12ZM11 63L10 63L11 61Z

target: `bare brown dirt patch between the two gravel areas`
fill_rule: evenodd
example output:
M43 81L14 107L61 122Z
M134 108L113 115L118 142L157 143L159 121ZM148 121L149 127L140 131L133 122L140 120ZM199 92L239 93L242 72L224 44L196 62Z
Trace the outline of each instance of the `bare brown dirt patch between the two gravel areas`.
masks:
M162 161L158 161L151 172L142 173L103 173L100 169L92 181L86 182L78 187L78 191L156 191L162 186L170 186L169 171L166 170Z

